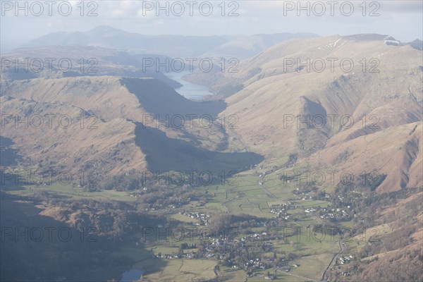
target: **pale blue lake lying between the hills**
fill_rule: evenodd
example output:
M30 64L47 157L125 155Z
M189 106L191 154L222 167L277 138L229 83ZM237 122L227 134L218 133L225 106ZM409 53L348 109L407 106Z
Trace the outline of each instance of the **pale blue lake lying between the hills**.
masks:
M201 84L196 84L183 80L182 77L190 71L181 71L180 73L165 73L168 78L178 81L181 85L180 88L177 88L175 91L181 94L183 97L190 100L201 100L205 96L212 94L209 92L209 87Z

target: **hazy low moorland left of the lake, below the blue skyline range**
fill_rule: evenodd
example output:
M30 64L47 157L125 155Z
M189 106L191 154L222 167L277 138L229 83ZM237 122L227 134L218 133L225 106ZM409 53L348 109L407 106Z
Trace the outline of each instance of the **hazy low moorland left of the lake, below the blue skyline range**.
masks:
M163 73L156 71L154 67L143 68L142 60L144 58L159 59L160 61L167 58L156 54L135 55L103 47L51 45L16 49L1 54L1 58L3 60L0 62L2 70L0 78L3 80L117 75L130 78L157 78L173 88L181 86L179 82L171 80ZM51 61L51 66L49 66L47 58L55 59ZM26 64L25 59L28 59ZM61 59L71 62L69 66L66 62L61 66L66 71L59 69ZM81 59L83 59L83 63ZM42 66L39 66L40 64Z

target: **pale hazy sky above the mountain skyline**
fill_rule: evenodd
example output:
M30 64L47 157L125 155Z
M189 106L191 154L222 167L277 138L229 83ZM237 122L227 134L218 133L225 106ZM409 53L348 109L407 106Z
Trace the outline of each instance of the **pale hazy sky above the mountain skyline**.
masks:
M257 0L47 1L19 1L22 9L18 9L15 0L0 0L2 51L49 32L86 31L97 25L146 35L379 33L405 42L422 39L423 33L423 1L419 0L301 1L300 5ZM87 16L90 11L92 16Z

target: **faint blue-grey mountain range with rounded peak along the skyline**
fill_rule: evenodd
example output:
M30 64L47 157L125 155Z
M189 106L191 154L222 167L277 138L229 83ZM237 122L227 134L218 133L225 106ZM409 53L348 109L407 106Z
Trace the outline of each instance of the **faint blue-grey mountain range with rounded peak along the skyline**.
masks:
M313 33L251 36L141 35L99 26L87 32L53 32L34 39L23 47L82 45L113 48L132 54L161 54L171 57L230 56L244 59L288 39L311 37L318 35Z

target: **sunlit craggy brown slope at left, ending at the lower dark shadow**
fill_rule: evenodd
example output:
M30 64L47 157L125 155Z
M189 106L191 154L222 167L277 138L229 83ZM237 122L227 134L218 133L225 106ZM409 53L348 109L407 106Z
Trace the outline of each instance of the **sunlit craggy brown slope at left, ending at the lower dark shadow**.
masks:
M135 145L135 125L125 118L106 121L92 111L59 102L0 99L1 135L13 140L23 166L102 176L146 169L145 155Z

